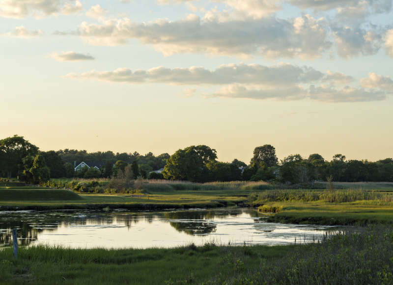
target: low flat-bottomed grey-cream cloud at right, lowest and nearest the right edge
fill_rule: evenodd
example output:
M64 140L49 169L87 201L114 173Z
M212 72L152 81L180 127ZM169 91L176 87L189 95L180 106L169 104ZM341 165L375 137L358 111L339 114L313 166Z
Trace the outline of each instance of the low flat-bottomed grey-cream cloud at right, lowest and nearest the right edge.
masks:
M339 103L339 102L369 102L386 99L386 93L379 90L366 91L363 88L345 86L336 89L331 86L314 86L309 88L309 97L311 100Z

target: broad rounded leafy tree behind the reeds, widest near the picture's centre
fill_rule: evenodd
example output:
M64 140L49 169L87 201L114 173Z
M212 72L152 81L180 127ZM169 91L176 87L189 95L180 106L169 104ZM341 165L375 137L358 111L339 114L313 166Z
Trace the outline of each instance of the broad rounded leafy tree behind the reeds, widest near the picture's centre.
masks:
M191 145L169 157L163 175L165 179L204 182L209 179L206 164L216 159L215 149L207 145Z

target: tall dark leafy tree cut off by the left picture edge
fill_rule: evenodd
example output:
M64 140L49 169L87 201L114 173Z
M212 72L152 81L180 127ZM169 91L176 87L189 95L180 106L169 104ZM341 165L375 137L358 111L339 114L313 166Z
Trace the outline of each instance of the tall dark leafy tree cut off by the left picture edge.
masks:
M22 170L22 159L28 155L35 156L38 147L23 137L15 135L0 140L0 169L8 178Z

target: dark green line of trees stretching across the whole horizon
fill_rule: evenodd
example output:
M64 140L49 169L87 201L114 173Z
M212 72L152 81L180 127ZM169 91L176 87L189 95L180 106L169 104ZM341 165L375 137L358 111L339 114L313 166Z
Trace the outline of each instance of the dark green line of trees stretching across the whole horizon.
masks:
M101 163L100 170L93 167L74 171L74 162L84 161L93 166ZM162 173L152 172L164 168ZM347 160L336 154L328 161L320 154L303 158L300 154L289 155L279 161L276 149L270 144L255 147L250 163L234 159L232 162L217 161L217 151L207 145L192 145L178 149L172 155L155 156L134 153L87 152L64 149L40 151L21 136L0 140L0 176L18 177L20 180L38 183L59 177L113 177L155 178L208 181L270 181L273 183L302 184L313 181L390 181L393 182L393 159L376 162Z

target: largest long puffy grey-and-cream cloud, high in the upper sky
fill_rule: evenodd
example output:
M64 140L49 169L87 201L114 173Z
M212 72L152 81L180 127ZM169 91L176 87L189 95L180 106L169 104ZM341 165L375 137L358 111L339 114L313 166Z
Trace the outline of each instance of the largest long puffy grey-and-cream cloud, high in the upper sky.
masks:
M95 45L119 45L129 39L139 39L165 56L207 53L315 58L332 45L327 39L324 21L309 15L292 20L263 18L229 22L201 21L196 15L190 15L179 21L160 19L147 24L132 23L124 18L102 24L83 22L76 33Z

